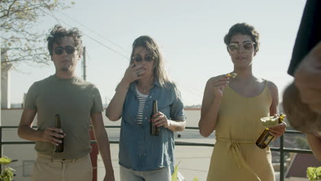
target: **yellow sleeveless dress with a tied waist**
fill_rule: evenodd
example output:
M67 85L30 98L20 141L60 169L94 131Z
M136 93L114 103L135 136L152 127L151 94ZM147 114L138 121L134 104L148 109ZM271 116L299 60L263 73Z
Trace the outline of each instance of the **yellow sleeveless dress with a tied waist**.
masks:
M267 84L265 81L255 97L242 97L229 86L224 88L208 181L275 180L270 147L255 145L264 130L260 118L270 115L272 97Z

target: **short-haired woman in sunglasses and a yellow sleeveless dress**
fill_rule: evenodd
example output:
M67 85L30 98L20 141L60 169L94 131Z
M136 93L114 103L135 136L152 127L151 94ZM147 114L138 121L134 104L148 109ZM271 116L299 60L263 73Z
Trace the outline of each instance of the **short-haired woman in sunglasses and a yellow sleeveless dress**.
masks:
M252 74L252 60L259 51L259 33L247 23L230 27L224 37L234 64L235 78L211 77L204 90L200 134L215 130L216 143L208 181L273 181L270 147L255 145L264 128L261 117L278 112L278 88L273 82ZM285 132L285 123L270 129L276 138Z

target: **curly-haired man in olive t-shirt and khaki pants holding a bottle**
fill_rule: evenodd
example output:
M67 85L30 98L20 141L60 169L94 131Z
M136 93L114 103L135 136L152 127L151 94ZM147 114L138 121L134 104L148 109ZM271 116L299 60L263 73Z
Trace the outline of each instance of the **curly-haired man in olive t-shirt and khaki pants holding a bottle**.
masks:
M32 180L91 180L91 123L106 168L104 180L115 180L99 90L75 75L82 54L80 32L56 25L47 40L56 73L29 88L18 130L21 138L36 142ZM36 114L38 129L34 130ZM60 114L61 129L55 128L56 114ZM64 151L54 152L55 145L62 143L60 138L64 138Z

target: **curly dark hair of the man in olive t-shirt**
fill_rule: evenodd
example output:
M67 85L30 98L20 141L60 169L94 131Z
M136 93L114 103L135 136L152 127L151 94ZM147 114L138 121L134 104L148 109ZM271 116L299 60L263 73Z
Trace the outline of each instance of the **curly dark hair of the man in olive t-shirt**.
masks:
M78 53L80 55L82 54L82 34L80 33L79 29L77 27L65 29L61 25L55 25L55 27L51 29L47 38L50 56L53 55L53 43L60 45L62 38L66 36L71 36L73 38L73 44L75 47L77 47Z

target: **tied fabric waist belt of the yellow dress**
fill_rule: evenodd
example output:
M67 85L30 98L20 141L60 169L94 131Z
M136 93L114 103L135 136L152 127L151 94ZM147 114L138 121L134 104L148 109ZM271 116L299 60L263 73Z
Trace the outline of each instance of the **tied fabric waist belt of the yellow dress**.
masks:
M233 140L230 138L216 138L217 141L226 141L226 148L232 152L235 161L237 162L237 167L245 167L250 171L253 175L254 178L257 178L258 181L261 181L259 176L257 176L257 173L255 173L250 166L248 166L248 163L246 163L246 160L244 160L242 154L241 154L241 149L239 148L239 143L255 143L254 140Z

